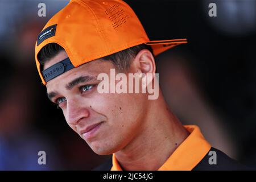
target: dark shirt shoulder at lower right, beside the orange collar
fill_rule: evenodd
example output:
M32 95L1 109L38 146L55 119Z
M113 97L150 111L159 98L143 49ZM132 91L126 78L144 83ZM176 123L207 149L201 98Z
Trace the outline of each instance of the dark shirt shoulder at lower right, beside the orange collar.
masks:
M212 152L211 152L212 151ZM213 159L215 158L215 159ZM210 162L213 162L210 164ZM238 163L236 160L230 158L228 155L226 155L224 152L218 150L217 148L210 148L209 153L204 156L204 158L201 160L199 164L195 168L193 168L193 171L231 171L231 170L249 170L246 166L243 166L243 164Z

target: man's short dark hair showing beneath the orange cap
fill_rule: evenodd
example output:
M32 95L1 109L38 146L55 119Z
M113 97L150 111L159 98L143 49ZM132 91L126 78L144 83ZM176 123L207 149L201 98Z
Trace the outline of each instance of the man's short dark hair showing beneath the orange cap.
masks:
M118 72L125 72L130 68L131 60L137 55L139 51L142 49L148 49L152 55L153 51L151 46L146 44L140 44L138 46L127 48L123 51L119 51L117 53L113 53L112 55L101 57L102 60L112 61L117 68ZM56 56L60 51L63 51L64 48L56 43L49 43L44 46L40 52L38 53L38 60L41 65L44 65L49 59Z

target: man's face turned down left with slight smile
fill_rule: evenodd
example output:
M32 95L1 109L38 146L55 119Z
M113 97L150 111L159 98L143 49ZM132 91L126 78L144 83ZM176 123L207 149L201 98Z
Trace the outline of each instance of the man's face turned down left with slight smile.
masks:
M61 51L44 69L67 58ZM110 61L94 60L73 68L47 82L51 101L59 105L68 125L96 154L113 154L125 147L142 129L146 111L145 94L98 93L100 73L110 77ZM117 71L115 71L117 74ZM135 68L130 68L135 73ZM127 74L127 73L126 73Z

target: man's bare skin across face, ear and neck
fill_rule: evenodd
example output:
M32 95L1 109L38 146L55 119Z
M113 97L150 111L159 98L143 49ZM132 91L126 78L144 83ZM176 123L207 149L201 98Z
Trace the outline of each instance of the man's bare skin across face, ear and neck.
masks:
M61 51L44 65L44 69L67 57L67 53ZM85 84L66 89L69 82L80 76L97 77L106 73L110 77L113 68L110 61L90 61L50 80L46 85L47 92L57 92L53 100L64 99L60 107L68 125L96 154L114 153L125 170L159 169L188 136L179 119L168 110L162 92L159 91L156 100L148 100L148 93L100 94L97 92L100 81L97 80L86 83L90 89L85 92L79 89ZM155 73L151 52L147 49L139 51L125 73L127 77L128 73ZM85 139L81 135L80 131L85 127L100 122L94 137Z

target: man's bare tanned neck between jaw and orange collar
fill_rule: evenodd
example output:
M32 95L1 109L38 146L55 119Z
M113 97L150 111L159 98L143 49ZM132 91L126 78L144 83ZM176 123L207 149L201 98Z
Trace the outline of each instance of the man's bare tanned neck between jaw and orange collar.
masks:
M170 157L188 131L168 109L162 94L148 104L141 132L122 150L115 153L125 170L157 170Z

